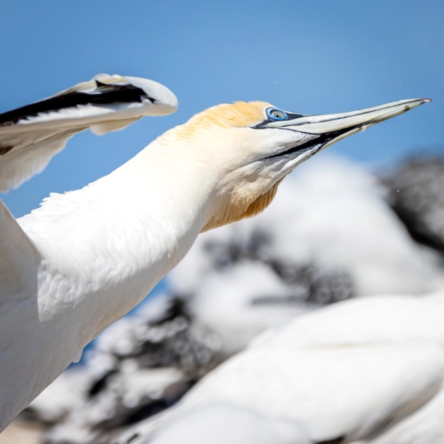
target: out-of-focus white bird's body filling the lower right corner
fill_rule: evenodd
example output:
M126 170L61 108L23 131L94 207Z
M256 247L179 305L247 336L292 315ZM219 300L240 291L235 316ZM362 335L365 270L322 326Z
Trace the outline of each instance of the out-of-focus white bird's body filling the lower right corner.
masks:
M205 427L206 409L219 403L294 421L312 443L443 443L443 316L444 291L313 311L257 338L119 444L173 444L187 415L189 442L199 443L194 425Z

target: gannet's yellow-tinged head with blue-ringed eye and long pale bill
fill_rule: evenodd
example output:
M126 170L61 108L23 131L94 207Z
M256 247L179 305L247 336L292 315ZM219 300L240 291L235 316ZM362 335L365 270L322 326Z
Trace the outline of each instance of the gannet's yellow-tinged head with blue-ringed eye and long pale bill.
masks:
M196 114L182 126L181 137L203 141L205 162L218 171L214 205L203 231L262 212L282 179L314 154L429 101L410 99L316 115L284 111L266 102L237 102Z

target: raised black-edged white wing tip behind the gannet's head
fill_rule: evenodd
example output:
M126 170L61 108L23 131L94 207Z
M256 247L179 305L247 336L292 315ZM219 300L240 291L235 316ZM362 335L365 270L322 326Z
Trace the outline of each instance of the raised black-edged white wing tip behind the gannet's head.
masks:
M171 114L176 96L138 77L99 74L54 96L0 114L0 191L40 173L67 140L91 128L103 135L144 116Z

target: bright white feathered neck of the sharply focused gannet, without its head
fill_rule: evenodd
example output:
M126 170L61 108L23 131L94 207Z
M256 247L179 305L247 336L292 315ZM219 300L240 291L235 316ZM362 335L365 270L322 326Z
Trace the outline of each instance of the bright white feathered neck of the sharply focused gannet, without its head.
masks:
M81 348L178 264L208 219L216 168L171 142L157 139L109 176L19 221L44 258L40 322L76 327Z

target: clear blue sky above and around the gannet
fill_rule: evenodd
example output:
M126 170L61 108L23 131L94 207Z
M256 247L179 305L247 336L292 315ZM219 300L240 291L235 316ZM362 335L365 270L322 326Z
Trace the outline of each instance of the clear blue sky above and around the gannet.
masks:
M300 112L434 102L329 148L391 164L444 152L444 1L23 1L0 3L0 112L107 72L160 81L180 109L103 137L83 133L1 196L15 216L50 191L109 173L211 105L265 100Z

